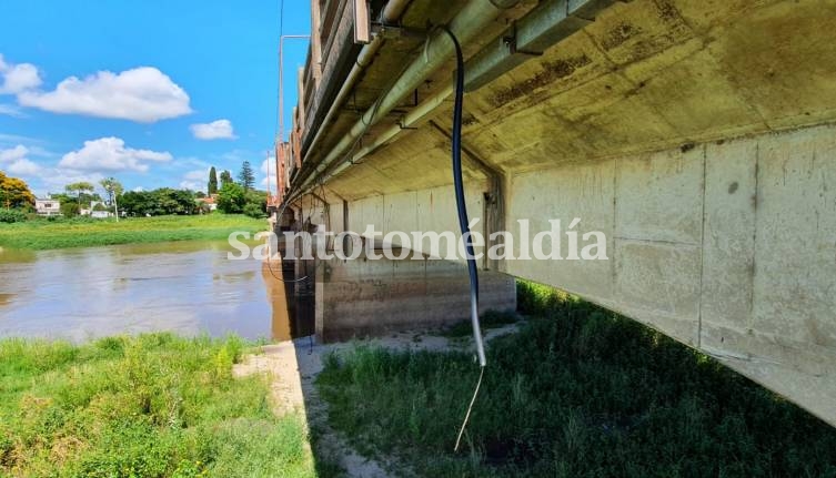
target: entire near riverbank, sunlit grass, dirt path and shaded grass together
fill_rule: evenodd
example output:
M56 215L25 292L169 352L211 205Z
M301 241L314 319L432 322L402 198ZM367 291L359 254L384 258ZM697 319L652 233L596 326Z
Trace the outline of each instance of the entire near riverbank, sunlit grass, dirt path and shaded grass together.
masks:
M836 476L836 429L628 318L521 283L522 319L248 348L0 340L0 476ZM517 317L518 318L518 317ZM341 471L342 469L342 471Z

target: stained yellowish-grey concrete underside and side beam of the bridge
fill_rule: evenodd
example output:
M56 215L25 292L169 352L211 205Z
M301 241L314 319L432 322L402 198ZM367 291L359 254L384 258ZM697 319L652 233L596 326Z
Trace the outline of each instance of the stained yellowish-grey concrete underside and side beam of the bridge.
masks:
M536 2L522 3L507 16ZM404 18L454 12L416 0ZM506 24L501 16L485 31ZM400 71L421 43L381 49L355 88L365 103L321 126L323 154L390 84L382 69ZM452 70L431 75L417 102ZM410 103L364 136L396 124ZM452 101L441 102L315 196L294 197L294 210L336 232L457 231L451 118ZM528 220L533 237L550 220L565 228L578 217L578 235L605 234L608 260L483 266L646 323L836 425L834 120L836 1L615 2L470 92L463 140L481 232L518 235Z

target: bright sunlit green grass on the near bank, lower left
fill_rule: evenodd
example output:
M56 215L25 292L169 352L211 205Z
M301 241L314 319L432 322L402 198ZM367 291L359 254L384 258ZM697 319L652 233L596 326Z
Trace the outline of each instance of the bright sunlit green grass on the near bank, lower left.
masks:
M84 346L0 340L0 476L313 477L239 339L167 334Z

